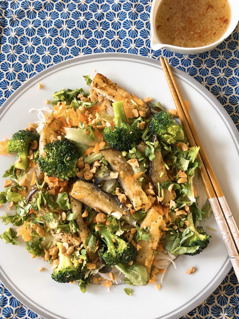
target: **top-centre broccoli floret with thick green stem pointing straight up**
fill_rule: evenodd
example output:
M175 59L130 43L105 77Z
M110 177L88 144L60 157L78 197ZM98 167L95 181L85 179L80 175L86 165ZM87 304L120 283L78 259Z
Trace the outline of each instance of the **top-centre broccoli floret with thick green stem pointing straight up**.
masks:
M112 107L115 126L113 130L111 127L105 127L103 136L110 147L118 151L128 151L134 142L140 143L142 130L127 123L123 101L112 103Z

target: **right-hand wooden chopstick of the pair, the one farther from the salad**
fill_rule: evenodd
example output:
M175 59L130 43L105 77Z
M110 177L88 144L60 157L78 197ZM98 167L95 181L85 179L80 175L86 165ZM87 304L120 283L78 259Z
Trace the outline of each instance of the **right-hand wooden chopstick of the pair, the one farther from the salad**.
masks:
M213 167L209 161L209 158L206 154L206 151L202 145L202 142L200 140L200 137L198 135L198 132L195 128L195 125L192 121L192 118L188 112L188 109L186 108L186 105L185 105L185 102L184 102L184 99L182 97L182 94L180 93L179 91L179 88L177 86L177 82L173 76L173 73L172 73L172 70L170 68L170 65L169 65L169 62L168 60L164 60L165 64L166 64L166 68L169 72L169 75L170 75L170 78L171 78L171 81L172 81L172 84L175 88L175 91L176 91L176 94L177 94L177 97L178 97L178 100L180 102L180 105L181 105L181 109L183 110L183 113L185 115L185 118L186 118L186 122L189 124L189 127L190 127L190 131L192 132L192 136L193 136L193 139L194 139L194 142L195 142L195 145L199 146L200 149L199 149L199 154L201 156L201 161L204 163L204 166L206 168L206 171L207 171L207 174L210 178L210 181L211 181L211 184L214 188L214 191L215 191L215 194L216 194L216 197L220 203L220 206L221 206L221 209L223 211L223 214L227 220L227 223L228 223L228 226L230 228L230 231L234 237L234 241L235 241L235 245L237 247L237 250L239 251L239 229L236 225L236 222L235 222L235 219L231 213L231 210L229 208L229 205L226 201L226 198L222 192L222 189L221 189L221 186L216 178L216 175L214 173L214 170L213 170Z

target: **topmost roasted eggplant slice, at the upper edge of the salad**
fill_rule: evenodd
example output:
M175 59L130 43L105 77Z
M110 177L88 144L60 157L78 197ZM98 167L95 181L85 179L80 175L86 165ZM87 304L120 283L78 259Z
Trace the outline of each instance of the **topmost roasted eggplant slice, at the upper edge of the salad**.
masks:
M131 100L133 100L138 105L138 111L145 112L146 116L150 113L150 108L147 103L138 99L134 94L131 95L126 92L100 73L97 73L94 77L91 87L112 102L124 101L127 107L132 107L134 103Z

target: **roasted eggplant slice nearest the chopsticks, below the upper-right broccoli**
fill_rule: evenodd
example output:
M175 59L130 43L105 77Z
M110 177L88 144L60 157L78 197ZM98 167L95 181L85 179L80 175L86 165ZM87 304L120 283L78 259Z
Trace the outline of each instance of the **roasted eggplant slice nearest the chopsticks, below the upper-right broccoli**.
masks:
M155 137L156 138L156 137ZM170 181L170 178L167 174L163 157L161 154L161 150L158 150L155 153L155 160L149 161L149 176L153 185L155 192L158 193L158 183L163 184L163 182ZM163 205L170 202L170 200L174 200L176 198L176 193L174 189L163 189L163 200L161 203Z

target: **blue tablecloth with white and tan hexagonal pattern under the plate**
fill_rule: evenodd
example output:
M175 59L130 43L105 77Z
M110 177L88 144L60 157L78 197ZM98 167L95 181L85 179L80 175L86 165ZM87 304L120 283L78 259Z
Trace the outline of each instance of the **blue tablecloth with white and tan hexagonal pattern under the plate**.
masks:
M239 130L239 25L217 48L193 56L150 48L151 0L0 0L0 106L49 66L100 52L125 52L170 64L204 85ZM0 318L40 318L0 283ZM231 270L182 318L239 319L239 284ZM180 319L182 319L180 318Z

